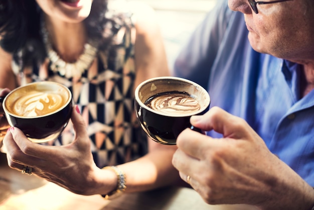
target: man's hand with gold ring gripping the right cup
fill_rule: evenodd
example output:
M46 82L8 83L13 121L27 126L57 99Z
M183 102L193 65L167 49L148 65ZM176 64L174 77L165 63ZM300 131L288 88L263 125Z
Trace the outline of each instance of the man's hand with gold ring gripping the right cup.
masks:
M310 209L314 190L273 155L244 120L214 107L192 117L191 123L224 136L214 139L186 129L177 139L173 165L182 179L191 177L189 183L206 202Z

